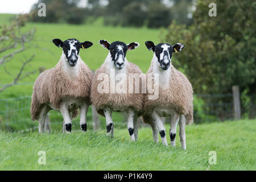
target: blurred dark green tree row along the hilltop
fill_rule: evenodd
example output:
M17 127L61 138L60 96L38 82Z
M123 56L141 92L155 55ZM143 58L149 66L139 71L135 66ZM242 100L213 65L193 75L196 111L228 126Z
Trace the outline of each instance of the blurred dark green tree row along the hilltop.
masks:
M40 2L46 4L46 17L38 16ZM152 28L167 27L173 18L185 24L191 23L192 20L187 17L191 10L192 0L88 0L86 7L79 7L79 2L80 0L39 0L32 6L30 20L81 24L88 16L96 18L102 16L104 24L107 25L136 27L146 25Z

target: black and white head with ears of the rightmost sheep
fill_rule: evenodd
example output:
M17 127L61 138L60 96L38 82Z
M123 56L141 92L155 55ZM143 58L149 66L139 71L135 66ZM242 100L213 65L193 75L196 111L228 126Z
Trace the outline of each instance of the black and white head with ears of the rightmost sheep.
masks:
M171 46L167 43L160 43L155 46L151 41L145 42L146 47L149 51L153 51L155 56L158 59L159 67L163 70L167 70L171 65L172 53L179 52L184 48L184 44L176 43L174 46Z

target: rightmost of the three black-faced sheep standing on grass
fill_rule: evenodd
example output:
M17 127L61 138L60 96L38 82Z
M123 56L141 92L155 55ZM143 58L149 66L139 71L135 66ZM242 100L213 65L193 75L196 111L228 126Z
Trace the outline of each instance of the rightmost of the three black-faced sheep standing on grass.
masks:
M158 75L159 95L155 100L149 100L148 93L145 94L143 121L151 126L155 142L158 142L159 131L163 144L168 146L166 130L160 117L171 116L171 146L175 146L176 128L179 122L181 148L185 150L185 124L193 123L193 89L187 77L171 64L172 53L181 51L184 44L177 43L171 46L160 43L155 46L151 41L145 44L149 51L154 52L150 68L146 73L147 81L150 75Z

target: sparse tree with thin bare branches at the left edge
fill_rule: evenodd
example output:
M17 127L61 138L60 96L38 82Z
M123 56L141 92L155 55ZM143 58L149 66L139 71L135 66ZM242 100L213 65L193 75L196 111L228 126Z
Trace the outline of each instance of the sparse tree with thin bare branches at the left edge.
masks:
M26 15L19 15L10 26L6 26L5 24L0 27L0 53L3 55L0 57L0 67L3 67L5 73L10 77L13 77L13 81L9 84L1 85L0 92L9 88L10 86L16 85L19 81L24 78L30 76L31 74L38 71L35 69L34 71L23 73L24 68L30 63L35 55L30 56L30 58L22 61L22 65L19 68L19 71L16 75L10 73L10 71L6 68L6 64L10 63L10 61L14 61L14 55L22 53L26 50L25 44L31 42L34 38L35 30L30 30L27 32L20 31L20 27L24 26L26 21Z

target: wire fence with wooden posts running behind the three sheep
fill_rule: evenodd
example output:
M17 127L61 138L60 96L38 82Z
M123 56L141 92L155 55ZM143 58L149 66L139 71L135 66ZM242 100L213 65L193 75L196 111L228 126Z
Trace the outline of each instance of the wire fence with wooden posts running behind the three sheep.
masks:
M38 122L33 122L30 117L30 105L31 96L0 100L0 130L18 133L37 131ZM196 94L193 105L195 123L234 119L232 94ZM255 118L255 102L241 102L241 107L242 117ZM50 111L49 118L51 127L61 130L61 123L63 121L61 114L56 111ZM92 121L92 113L90 111L88 112L87 119ZM78 120L78 118L75 120ZM77 127L79 129L79 121L72 123L72 128Z

